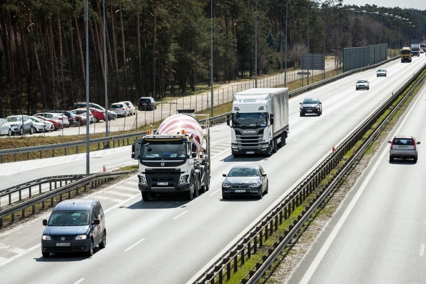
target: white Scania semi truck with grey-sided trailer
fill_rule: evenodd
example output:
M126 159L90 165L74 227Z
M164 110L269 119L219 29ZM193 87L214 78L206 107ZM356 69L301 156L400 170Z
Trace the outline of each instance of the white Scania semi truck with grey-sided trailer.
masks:
M288 135L288 88L251 88L233 94L226 115L231 152L241 155L276 152Z

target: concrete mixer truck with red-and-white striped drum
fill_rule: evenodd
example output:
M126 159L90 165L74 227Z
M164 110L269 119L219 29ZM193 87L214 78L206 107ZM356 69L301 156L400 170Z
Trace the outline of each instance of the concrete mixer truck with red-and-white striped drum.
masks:
M196 116L204 116L200 124ZM205 129L202 128L205 126ZM151 130L152 131L152 130ZM208 115L179 109L161 122L155 134L134 140L131 157L139 161L138 186L143 201L158 192L182 192L192 200L210 184Z

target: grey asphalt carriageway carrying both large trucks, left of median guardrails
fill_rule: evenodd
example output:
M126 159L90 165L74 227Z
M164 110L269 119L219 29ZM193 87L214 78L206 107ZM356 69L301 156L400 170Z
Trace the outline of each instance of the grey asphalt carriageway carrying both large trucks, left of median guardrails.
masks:
M425 62L424 57L414 58L411 63L396 60L383 66L388 69L387 77L376 78L375 70L367 70L291 98L287 144L270 157L233 158L229 149L229 128L226 125L212 127L210 190L190 202L182 196L172 195L159 195L150 202L143 202L137 190L136 176L94 193L92 197L100 199L105 209L108 242L105 249L96 249L92 257L41 257L41 219L48 216L47 212L44 216L32 218L25 226L0 230L2 281L36 283L42 280L56 283L58 275L64 283L191 281L198 271L222 254L333 146L391 95L411 75L412 70L420 68ZM358 78L369 79L370 89L355 91ZM320 98L323 104L321 116L299 116L299 102L306 96ZM115 155L119 156L116 160ZM63 158L68 157L57 159ZM101 168L99 165L108 159L114 159L111 164L117 164L120 158L123 163L134 162L127 148L110 156L95 157L91 153L90 164L93 170L98 170ZM99 164L96 165L96 162ZM260 163L267 172L269 193L262 199L221 199L221 173L239 163ZM5 166L0 166L0 172L6 170ZM28 170L24 162L16 167L7 167L15 169L8 169L6 176L0 175L1 182L10 178L21 180L21 177L35 170L48 173L45 175L52 175L52 170L57 172L59 168L67 168L68 174L81 173L84 158L54 165L40 163L38 167ZM16 273L15 267L25 269Z

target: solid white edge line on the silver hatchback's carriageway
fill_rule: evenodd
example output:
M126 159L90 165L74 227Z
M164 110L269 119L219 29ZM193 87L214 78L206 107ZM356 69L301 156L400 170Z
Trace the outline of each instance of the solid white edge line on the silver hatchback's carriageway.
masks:
M404 118L400 122L398 128L394 131L395 133L398 133L402 126L405 124L405 121L407 120L409 114L411 113L414 105L417 105L417 101L419 100L420 96L417 96L414 103L411 104L411 108L408 109L406 112ZM374 172L377 170L377 167L381 163L381 160L384 158L384 155L386 155L388 152L388 148L385 147L383 152L380 154L379 158L374 163L371 170L368 172L367 176L365 177L362 184L359 186L358 191L356 191L355 195L353 196L352 200L350 201L349 205L344 210L343 214L341 215L340 219L337 221L336 225L334 226L333 230L325 240L324 244L320 248L319 252L316 254L315 258L313 259L312 263L309 265L309 268L306 270L305 274L303 275L303 278L300 280L299 284L308 283L310 278L313 275L313 272L316 270L316 268L319 265L319 262L321 262L322 258L324 257L325 253L327 252L328 248L330 247L331 243L333 242L334 238L336 237L338 231L343 226L343 223L346 221L347 217L349 216L350 211L355 206L356 202L358 201L359 197L361 196L362 192L364 191L365 187L367 186L368 182L370 181L371 177L374 175Z

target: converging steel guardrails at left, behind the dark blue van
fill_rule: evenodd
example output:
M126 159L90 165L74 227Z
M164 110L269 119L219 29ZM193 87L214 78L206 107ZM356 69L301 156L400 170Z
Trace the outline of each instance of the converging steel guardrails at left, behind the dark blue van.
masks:
M1 196L9 196L9 200L12 199L13 194L19 194L19 198L21 198L22 191L27 190L27 198L19 199L16 201L17 204L13 204L10 201L8 207L0 210L0 228L3 227L3 220L6 217L10 218L10 222L15 221L15 214L20 213L20 218L24 218L27 214L32 215L36 212L36 205L40 205L41 209L46 207L46 201L48 201L49 206L62 201L63 194L67 194L66 198L71 198L80 193L87 192L89 188L94 188L99 186L105 182L108 182L112 179L120 177L124 174L129 173L131 170L122 170L122 171L113 171L113 172L101 172L86 175L74 175L74 176L52 176L39 179L34 182L27 182L26 185L16 186L16 188L11 187L9 190L2 190L0 193ZM73 181L72 181L73 180ZM67 183L67 181L70 181ZM56 184L59 182L65 182L65 185L57 187ZM39 186L41 188L42 184L49 184L46 192L38 192L38 194L33 196L33 192L31 192L31 187ZM72 192L72 194L71 194ZM27 213L27 208L30 208L30 212Z

